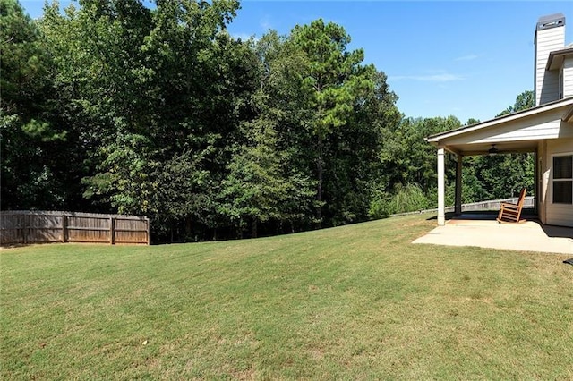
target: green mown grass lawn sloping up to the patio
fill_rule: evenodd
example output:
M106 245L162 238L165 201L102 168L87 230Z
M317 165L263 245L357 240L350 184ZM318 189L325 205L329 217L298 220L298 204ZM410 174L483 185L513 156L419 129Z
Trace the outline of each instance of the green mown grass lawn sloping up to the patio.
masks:
M0 378L573 379L567 256L413 245L435 221L0 251Z

